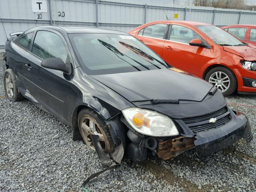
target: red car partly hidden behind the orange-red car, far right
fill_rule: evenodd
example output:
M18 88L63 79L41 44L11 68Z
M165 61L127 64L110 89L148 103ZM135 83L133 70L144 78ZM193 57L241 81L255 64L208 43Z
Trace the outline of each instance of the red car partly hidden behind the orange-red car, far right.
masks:
M256 25L230 25L222 27L242 42L256 45Z

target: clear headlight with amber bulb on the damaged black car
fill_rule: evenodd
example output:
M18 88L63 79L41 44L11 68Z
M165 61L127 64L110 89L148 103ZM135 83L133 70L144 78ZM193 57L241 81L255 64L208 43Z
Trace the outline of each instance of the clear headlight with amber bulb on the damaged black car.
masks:
M174 136L178 129L174 122L157 112L140 108L127 108L122 110L126 121L135 131L149 136Z

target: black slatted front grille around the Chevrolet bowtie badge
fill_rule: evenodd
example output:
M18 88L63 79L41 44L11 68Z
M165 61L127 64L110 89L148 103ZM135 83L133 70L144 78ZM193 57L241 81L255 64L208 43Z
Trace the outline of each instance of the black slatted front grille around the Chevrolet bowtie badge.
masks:
M217 120L214 123L210 123L209 122L210 118L216 118ZM224 124L227 124L228 122L230 122L230 120L231 120L230 113L228 112L228 109L225 107L211 114L183 119L183 122L192 131L202 132L202 131L208 131L208 130L221 127Z

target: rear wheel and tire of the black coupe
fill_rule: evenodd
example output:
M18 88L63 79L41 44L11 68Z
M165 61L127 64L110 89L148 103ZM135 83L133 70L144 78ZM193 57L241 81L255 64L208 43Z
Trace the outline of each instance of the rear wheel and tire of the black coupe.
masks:
M25 99L18 91L15 74L11 69L7 69L4 72L4 90L6 98L11 101L22 101Z

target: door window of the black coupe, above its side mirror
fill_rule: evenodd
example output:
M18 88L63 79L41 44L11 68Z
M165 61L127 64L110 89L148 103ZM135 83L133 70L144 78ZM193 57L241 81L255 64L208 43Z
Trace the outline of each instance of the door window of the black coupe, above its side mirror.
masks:
M32 53L41 58L61 58L64 63L68 56L66 47L57 34L49 31L38 31L32 46Z

